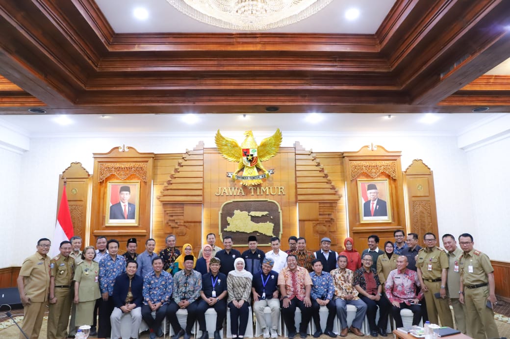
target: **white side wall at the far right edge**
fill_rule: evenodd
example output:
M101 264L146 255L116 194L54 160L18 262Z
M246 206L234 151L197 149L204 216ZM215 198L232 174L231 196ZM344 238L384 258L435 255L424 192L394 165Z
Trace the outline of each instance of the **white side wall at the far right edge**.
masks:
M473 194L469 197L477 232L475 248L491 259L510 261L506 249L510 230L510 137L470 150L466 153ZM467 199L466 199L467 200Z

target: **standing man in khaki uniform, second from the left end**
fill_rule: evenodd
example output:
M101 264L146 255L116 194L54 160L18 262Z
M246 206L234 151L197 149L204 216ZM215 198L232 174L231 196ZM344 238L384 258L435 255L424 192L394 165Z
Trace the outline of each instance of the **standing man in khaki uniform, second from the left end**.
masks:
M74 274L74 259L71 253L71 242L60 243L60 254L54 257L50 264L49 278L49 314L48 339L67 338L67 325L71 311L71 300L74 293L71 289Z

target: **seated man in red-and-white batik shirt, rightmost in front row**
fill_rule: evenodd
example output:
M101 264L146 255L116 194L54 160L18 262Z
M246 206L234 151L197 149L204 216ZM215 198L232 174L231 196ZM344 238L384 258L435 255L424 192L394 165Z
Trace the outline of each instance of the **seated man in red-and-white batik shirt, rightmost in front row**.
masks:
M413 312L413 325L418 325L421 319L420 300L423 292L416 295L416 288L420 287L418 273L407 268L407 257L401 255L397 258L397 269L390 272L386 279L386 296L391 302L391 314L397 327L402 327L400 310L409 308Z

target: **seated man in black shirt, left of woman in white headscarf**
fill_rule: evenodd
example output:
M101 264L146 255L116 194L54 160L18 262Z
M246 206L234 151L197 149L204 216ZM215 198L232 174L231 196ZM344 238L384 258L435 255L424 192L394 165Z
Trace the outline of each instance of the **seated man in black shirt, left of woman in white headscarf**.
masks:
M206 326L206 311L213 307L216 311L216 328L214 339L220 339L220 331L226 317L226 275L220 272L220 259L211 258L210 272L202 275L202 291L197 306L197 320L202 331L200 339L209 339Z

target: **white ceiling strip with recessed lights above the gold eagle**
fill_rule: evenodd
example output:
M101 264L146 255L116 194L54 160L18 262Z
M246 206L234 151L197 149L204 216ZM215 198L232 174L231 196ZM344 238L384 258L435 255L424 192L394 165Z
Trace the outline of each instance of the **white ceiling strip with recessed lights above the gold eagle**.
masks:
M423 123L424 114L395 114L391 119L382 114L323 114L322 121L307 121L308 114L257 114L243 118L237 114L200 114L195 124L182 121L179 114L116 114L68 115L71 121L61 125L55 115L5 115L0 125L29 137L143 135L156 136L179 133L215 133L221 131L274 131L302 133L400 133L457 136L498 113L438 114L435 123Z

